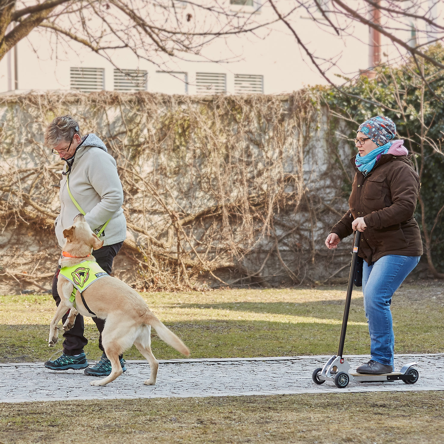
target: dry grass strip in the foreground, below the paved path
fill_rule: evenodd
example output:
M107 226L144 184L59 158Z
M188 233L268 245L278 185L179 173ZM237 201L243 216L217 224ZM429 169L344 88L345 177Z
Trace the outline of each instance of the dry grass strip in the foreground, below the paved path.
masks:
M444 392L0 404L0 443L442 444Z

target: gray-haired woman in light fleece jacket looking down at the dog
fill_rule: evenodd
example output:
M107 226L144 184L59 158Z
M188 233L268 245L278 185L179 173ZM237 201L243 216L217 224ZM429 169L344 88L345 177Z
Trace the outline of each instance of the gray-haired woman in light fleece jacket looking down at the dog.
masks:
M103 270L110 274L114 257L120 250L127 232L127 222L122 209L122 183L115 160L107 153L107 147L95 134L82 137L79 124L70 115L56 117L49 124L45 131L45 146L52 148L52 154L58 155L66 162L60 181L60 214L55 221L59 246L63 248L63 230L72 225L81 207L91 230L103 240L103 247L92 254ZM57 293L58 277L57 269L52 281L52 297L56 305L60 303ZM66 318L65 314L63 322ZM99 363L93 367L88 366L83 351L88 341L83 334L83 317L78 315L73 328L63 333L63 354L54 361L45 362L46 368L85 369L86 375L100 377L111 373L111 363L102 346L105 321L97 317L92 319L100 332L99 348L103 354ZM123 371L126 371L122 357L120 362Z

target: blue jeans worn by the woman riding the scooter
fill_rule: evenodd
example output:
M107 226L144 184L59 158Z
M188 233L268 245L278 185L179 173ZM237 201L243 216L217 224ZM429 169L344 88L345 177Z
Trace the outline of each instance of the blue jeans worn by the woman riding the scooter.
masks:
M378 259L373 265L364 262L362 291L373 361L393 365L395 335L390 311L392 295L418 265L419 260L420 256L389 254Z

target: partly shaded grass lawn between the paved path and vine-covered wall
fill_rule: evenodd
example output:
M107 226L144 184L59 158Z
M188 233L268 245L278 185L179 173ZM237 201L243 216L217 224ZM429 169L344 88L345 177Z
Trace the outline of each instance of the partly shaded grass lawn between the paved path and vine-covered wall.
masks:
M404 284L392 313L395 353L444 352L444 287L439 281ZM345 287L238 289L192 293L142 293L153 312L188 345L193 358L334 354L344 310ZM46 361L55 303L45 295L0 296L0 361ZM98 332L86 318L85 351L97 359ZM181 357L153 333L158 359ZM369 353L362 292L353 292L345 354ZM126 359L143 359L135 347Z

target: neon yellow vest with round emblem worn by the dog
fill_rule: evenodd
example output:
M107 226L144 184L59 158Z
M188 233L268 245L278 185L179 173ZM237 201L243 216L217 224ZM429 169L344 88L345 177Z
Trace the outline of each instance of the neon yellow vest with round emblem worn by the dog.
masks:
M83 290L89 287L93 282L97 281L103 276L109 276L109 274L102 269L97 262L83 261L72 267L63 267L60 269L59 275L62 275L65 279L70 281L74 285L69 301L74 304L75 308L75 293L79 290L80 297L82 298L85 308L94 316L96 314L89 309L83 298Z

